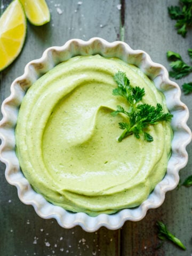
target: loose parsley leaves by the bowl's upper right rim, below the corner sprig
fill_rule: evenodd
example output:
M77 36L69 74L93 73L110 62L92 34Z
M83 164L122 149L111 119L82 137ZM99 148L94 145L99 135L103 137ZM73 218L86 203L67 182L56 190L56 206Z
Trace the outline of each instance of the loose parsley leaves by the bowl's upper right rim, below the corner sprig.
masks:
M188 54L192 61L192 49L188 49ZM168 51L167 58L172 61L170 63L172 71L169 71L171 77L174 77L175 79L180 79L184 76L189 75L192 72L192 66L187 65L187 63L182 60L179 53ZM185 94L192 92L192 82L184 83L182 85L182 89Z

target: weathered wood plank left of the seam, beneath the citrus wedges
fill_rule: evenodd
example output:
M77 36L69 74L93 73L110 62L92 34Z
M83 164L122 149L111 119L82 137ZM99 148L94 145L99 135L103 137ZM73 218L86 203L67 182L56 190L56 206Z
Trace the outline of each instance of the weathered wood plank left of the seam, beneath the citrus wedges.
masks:
M0 3L6 7L10 2ZM12 81L22 75L26 63L41 57L47 47L63 45L71 38L86 40L99 36L108 41L118 38L118 0L47 0L47 4L51 22L43 27L28 23L21 54L0 74L1 102L10 94ZM63 229L55 220L39 218L33 207L19 201L17 189L6 182L4 164L0 169L0 255L119 255L119 230L101 228L89 234L80 227Z

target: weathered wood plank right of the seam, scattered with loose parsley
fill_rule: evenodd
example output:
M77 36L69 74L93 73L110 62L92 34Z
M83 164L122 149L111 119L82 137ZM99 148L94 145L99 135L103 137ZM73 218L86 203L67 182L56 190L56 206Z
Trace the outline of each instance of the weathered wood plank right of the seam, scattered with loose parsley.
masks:
M192 30L186 38L182 38L174 29L175 21L167 13L167 6L178 5L178 0L167 1L125 1L125 42L133 49L142 49L149 53L151 59L163 64L170 70L166 51L179 52L188 63L187 49L192 46ZM173 79L174 80L174 79ZM177 81L181 86L184 82L192 81L192 76ZM191 95L181 96L192 109ZM191 116L188 125L192 126ZM181 179L191 175L191 145L187 147L189 154L188 165L180 171ZM191 188L181 187L166 194L164 204L158 209L149 210L145 219L139 222L127 222L122 229L122 255L191 255L192 244L192 212ZM156 221L162 220L186 245L187 251L181 251L177 246L167 242L161 248L156 247L161 242L157 238Z

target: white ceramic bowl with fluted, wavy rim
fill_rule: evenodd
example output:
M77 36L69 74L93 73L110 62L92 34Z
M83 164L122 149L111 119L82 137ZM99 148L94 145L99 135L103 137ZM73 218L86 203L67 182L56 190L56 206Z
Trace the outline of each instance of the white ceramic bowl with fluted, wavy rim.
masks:
M52 69L58 63L76 55L100 54L104 57L118 57L127 63L139 67L166 98L167 107L174 115L171 125L174 131L172 140L172 155L167 166L164 179L158 183L153 193L146 201L134 209L124 209L115 214L100 214L97 217L81 213L71 213L59 206L47 202L42 195L37 194L29 185L20 170L18 158L15 155L14 127L17 122L18 110L28 87L39 77ZM170 81L167 70L151 61L149 55L141 50L132 50L123 42L109 43L101 38L89 41L71 39L61 47L50 47L38 60L30 61L25 67L25 73L15 79L11 85L11 95L2 104L3 118L0 122L0 137L2 140L0 158L6 165L7 181L17 187L20 200L34 206L36 213L42 218L55 218L61 227L72 228L81 226L86 231L95 231L101 226L118 229L126 220L139 221L145 217L150 208L160 206L168 190L174 189L179 183L179 170L188 161L186 146L191 141L191 131L186 122L189 111L180 101L179 86Z

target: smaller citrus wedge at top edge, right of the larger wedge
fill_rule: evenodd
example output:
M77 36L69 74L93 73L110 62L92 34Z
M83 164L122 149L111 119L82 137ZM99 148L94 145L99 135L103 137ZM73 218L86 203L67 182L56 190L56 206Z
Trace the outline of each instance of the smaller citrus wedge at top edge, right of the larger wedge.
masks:
M41 26L50 21L50 11L45 0L20 0L29 22Z

